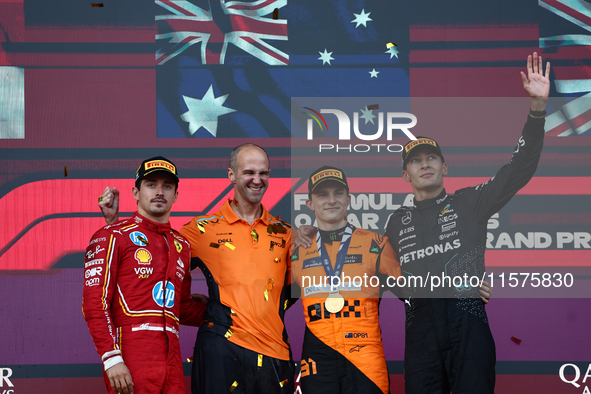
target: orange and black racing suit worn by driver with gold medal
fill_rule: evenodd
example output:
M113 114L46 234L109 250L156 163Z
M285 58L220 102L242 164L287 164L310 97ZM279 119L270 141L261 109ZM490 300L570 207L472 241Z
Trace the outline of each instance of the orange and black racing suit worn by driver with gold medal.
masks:
M336 237L334 232L326 235L327 232L319 231L310 248L296 248L292 254L294 280L302 289L306 318L302 391L306 394L388 393L389 375L378 320L377 275L398 277L400 264L383 235L351 225L341 229ZM336 240L331 242L330 238ZM321 252L326 250L334 268L339 249L344 249L341 245L347 248L341 251L344 260L339 276L344 307L340 312L330 313L325 300L331 282L324 285L327 274Z

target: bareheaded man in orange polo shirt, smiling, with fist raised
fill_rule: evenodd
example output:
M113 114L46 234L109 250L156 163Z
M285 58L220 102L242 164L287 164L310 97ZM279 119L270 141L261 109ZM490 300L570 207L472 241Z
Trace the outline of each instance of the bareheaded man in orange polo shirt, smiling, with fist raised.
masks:
M283 323L290 306L291 229L261 204L269 172L263 148L236 147L228 168L234 198L180 231L191 243L191 269L202 270L209 288L193 353L193 394L294 392ZM107 188L101 197L112 223L118 191Z

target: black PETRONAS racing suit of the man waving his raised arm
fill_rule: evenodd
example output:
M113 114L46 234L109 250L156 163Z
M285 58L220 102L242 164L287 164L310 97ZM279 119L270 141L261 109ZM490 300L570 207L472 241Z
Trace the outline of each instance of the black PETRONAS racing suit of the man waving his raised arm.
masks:
M402 274L426 286L406 288L406 393L493 393L495 343L478 287L447 285L431 292L432 277L482 278L486 225L534 175L544 119L528 116L509 164L489 181L416 201L390 217L386 235ZM459 284L459 282L456 282Z

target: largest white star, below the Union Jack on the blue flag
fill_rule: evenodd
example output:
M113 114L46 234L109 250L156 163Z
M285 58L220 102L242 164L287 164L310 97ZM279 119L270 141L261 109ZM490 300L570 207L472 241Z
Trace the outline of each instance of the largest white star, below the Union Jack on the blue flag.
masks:
M181 115L181 119L189 123L191 135L203 127L214 137L217 136L218 117L236 111L223 106L227 98L227 94L216 98L213 94L213 85L209 85L209 89L201 100L183 95L189 110Z

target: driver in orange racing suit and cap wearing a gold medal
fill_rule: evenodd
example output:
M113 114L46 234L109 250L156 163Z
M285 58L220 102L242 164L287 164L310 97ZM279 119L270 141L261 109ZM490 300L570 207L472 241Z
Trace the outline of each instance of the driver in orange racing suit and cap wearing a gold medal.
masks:
M380 287L372 287L370 278L398 277L400 264L387 237L347 223L350 202L343 171L326 166L312 173L306 205L320 231L309 248L292 253L306 319L301 365L306 394L389 392Z

